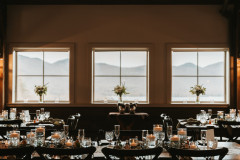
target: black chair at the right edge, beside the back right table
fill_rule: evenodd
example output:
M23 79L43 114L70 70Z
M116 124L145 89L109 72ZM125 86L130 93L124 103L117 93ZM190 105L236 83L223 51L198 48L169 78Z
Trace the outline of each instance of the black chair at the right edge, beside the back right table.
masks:
M236 140L238 136L236 136L236 138L233 139L234 135L233 135L231 126L239 126L239 125L240 125L240 122L236 122L236 121L218 121L218 126L220 129L220 140L222 141L223 135L227 135L228 141ZM240 129L238 132L240 132Z

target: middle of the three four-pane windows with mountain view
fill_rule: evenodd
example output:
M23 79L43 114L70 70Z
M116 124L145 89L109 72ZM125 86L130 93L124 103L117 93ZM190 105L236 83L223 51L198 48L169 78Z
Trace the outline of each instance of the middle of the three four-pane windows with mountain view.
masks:
M148 102L148 49L93 49L92 102L117 102L113 92L124 84L123 101Z

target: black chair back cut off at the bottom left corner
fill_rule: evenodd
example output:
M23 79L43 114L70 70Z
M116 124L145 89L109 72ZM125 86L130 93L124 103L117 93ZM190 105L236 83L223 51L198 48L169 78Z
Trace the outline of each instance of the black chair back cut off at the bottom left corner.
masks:
M0 149L0 156L16 156L17 159L31 159L34 147L19 147L19 148L6 148Z

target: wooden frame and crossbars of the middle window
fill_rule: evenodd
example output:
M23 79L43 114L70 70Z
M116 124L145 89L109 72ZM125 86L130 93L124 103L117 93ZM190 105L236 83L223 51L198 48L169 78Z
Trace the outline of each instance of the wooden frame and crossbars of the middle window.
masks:
M117 77L121 78L122 77L145 77L146 78L146 101L138 101L140 104L149 104L149 55L150 55L150 49L148 47L92 47L91 52L92 52L92 94L91 94L91 104L104 104L104 100L102 101L95 101L94 100L94 91L95 91L95 77L104 77L104 75L101 76L96 76L95 75L95 52L96 51L119 51L120 52L120 74L113 76L113 75L105 75L105 77ZM145 76L140 76L140 75L126 75L122 76L121 75L121 52L122 51L146 51L146 75ZM108 104L115 104L117 101L114 100L108 100ZM132 101L125 101L124 102L132 102Z

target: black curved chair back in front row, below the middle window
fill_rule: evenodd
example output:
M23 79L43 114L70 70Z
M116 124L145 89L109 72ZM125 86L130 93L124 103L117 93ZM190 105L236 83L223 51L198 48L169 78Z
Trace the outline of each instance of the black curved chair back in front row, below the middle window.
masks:
M140 156L148 156L154 155L153 160L158 159L158 156L162 153L162 148L150 148L150 149L139 149L139 150L124 150L124 149L111 149L111 148L103 148L102 153L105 155L107 160L111 160L110 156L118 157L120 159L124 159L125 157L140 157Z

